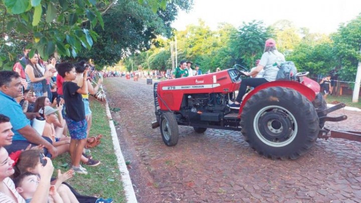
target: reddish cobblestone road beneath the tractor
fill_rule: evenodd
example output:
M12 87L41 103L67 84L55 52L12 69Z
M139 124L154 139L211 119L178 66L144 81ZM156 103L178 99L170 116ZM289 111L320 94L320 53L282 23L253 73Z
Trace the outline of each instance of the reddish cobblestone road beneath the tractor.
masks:
M118 137L139 202L361 202L361 146L318 139L297 160L259 156L240 132L179 127L178 144L167 147L155 120L152 85L124 78L105 81ZM360 112L332 129L361 131Z

